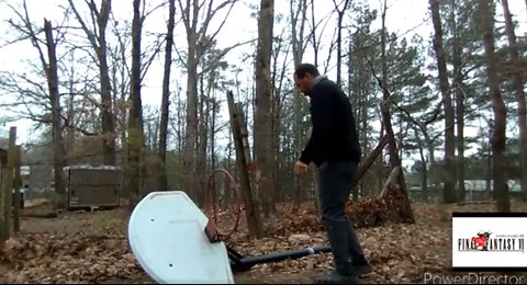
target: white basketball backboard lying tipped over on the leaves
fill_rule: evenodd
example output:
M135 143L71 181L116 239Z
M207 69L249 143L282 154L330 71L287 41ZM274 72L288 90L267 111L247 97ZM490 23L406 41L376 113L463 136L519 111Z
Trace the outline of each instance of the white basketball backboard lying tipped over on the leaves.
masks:
M204 233L208 221L184 192L153 192L130 217L128 242L157 283L234 284L224 242L211 243Z

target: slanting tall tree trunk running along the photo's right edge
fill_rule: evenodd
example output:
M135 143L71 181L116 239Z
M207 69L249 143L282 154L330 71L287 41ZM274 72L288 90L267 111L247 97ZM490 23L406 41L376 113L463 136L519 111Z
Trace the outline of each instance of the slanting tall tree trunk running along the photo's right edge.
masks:
M526 0L527 4L527 0ZM508 10L508 0L502 0L503 13L505 16L505 31L508 38L508 54L514 65L519 61L518 43L514 32L513 16ZM518 128L519 128L519 180L522 184L523 201L527 202L527 107L525 103L524 73L520 68L514 68L514 89L518 103Z

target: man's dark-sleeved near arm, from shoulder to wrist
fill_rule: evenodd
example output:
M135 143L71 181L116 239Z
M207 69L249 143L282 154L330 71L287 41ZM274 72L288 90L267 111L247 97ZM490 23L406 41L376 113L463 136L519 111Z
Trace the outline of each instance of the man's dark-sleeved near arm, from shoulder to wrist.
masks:
M330 138L332 125L333 125L333 103L332 96L328 93L322 93L313 96L312 102L311 121L313 129L310 140L305 146L300 161L309 164L313 161L315 153L324 149L325 145Z

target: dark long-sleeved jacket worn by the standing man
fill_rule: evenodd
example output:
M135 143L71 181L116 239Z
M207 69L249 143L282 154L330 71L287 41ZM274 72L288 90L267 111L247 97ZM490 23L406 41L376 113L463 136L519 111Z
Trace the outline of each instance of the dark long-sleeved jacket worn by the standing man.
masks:
M319 77L307 94L312 133L300 161L321 166L325 161L360 161L360 145L351 103L341 89Z

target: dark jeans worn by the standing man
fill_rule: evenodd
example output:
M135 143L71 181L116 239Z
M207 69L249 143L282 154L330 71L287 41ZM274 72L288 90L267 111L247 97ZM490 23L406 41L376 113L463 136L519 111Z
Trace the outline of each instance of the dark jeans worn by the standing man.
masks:
M368 264L346 215L357 168L354 161L324 162L317 168L322 223L333 248L335 270L346 275L352 274L355 266Z

